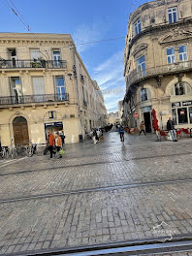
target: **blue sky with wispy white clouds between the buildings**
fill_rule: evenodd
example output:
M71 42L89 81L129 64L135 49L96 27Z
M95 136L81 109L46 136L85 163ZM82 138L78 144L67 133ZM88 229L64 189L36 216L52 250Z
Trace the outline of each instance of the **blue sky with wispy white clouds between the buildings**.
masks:
M145 0L0 0L0 32L28 32L13 3L34 33L71 34L80 57L103 91L108 112L125 94L123 52L127 23ZM119 39L116 39L119 38ZM116 40L110 40L116 39ZM100 41L95 44L82 43ZM106 40L106 41L105 41Z

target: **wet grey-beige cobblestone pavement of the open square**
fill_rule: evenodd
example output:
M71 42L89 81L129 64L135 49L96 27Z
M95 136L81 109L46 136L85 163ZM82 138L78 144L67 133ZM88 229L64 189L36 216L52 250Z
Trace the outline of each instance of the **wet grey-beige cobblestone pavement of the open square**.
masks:
M192 140L105 137L0 162L1 255L192 237Z

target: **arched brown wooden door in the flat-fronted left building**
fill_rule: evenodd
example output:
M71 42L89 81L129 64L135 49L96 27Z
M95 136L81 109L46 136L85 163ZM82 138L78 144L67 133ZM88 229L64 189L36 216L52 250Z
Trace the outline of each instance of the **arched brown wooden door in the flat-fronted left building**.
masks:
M17 116L13 121L15 144L29 144L27 120L23 116Z

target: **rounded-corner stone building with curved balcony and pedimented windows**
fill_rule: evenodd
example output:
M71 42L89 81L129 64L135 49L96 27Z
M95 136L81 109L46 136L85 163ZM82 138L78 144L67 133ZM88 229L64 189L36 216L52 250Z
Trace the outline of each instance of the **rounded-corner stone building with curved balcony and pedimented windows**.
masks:
M157 0L129 17L124 51L124 120L152 131L154 109L161 129L192 128L192 2ZM137 116L139 117L135 117Z

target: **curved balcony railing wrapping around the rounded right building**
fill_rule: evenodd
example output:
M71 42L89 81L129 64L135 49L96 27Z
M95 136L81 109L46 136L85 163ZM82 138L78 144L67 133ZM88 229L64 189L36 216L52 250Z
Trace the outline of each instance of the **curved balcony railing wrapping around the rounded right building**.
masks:
M156 77L159 75L166 75L176 72L182 72L192 69L192 61L182 61L173 64L167 64L163 66L153 67L146 69L142 72L137 72L137 70L132 71L130 76L128 76L128 85L131 85L140 80L145 80L147 78Z

